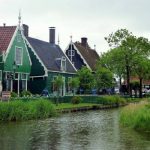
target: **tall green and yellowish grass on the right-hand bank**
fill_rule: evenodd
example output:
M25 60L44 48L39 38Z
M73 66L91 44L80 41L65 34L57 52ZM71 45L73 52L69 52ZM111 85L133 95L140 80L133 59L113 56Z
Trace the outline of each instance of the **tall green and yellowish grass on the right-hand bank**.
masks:
M150 103L128 105L121 112L120 123L136 130L150 131Z

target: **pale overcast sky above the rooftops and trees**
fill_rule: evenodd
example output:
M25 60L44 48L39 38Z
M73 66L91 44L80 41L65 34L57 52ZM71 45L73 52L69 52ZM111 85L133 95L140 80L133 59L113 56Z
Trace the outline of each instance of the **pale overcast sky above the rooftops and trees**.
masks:
M109 50L104 37L126 28L150 39L149 0L0 0L0 25L17 25L19 10L29 36L49 41L48 27L56 27L60 47L87 37L98 54Z

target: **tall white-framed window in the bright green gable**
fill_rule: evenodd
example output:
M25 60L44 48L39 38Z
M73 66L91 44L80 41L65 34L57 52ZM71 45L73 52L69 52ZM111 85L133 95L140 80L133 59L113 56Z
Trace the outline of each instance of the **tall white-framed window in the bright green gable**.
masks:
M20 47L16 47L15 63L16 65L22 65L22 48Z

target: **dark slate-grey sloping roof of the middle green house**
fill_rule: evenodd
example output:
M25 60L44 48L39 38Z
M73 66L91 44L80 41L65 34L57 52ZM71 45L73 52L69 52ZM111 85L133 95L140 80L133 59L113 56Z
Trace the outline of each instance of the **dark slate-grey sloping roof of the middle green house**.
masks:
M75 73L76 70L65 56L61 48L56 44L50 44L39 39L26 37L30 45L35 50L47 70L60 72L60 58L66 58L66 72Z

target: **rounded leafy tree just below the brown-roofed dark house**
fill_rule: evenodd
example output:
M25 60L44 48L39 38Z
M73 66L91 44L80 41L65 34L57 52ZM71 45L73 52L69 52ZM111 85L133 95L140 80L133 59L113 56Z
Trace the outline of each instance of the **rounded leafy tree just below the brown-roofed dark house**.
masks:
M84 66L80 70L78 70L77 75L79 77L80 87L84 90L90 90L93 86L94 81L92 71Z

